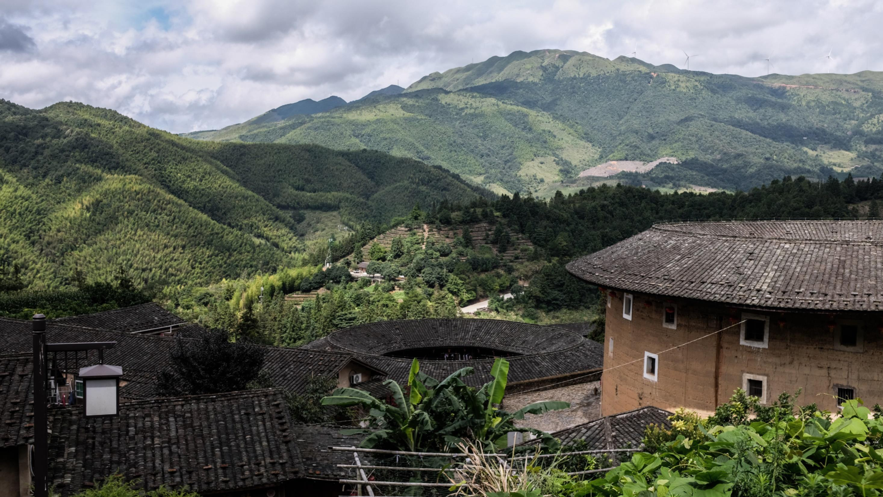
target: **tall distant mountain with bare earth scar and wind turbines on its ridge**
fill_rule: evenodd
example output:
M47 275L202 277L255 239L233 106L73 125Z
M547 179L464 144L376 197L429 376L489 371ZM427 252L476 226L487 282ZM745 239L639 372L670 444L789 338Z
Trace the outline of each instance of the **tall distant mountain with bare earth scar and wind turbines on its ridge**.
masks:
M517 51L428 74L398 95L191 136L378 149L497 192L547 196L609 180L745 189L787 174L883 172L883 73L745 78ZM662 157L679 164L645 171ZM615 175L585 172L599 164Z

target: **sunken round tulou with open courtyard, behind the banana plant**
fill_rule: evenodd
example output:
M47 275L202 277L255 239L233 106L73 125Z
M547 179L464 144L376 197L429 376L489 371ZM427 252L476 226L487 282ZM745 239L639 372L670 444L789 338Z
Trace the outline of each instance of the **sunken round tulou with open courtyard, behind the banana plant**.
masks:
M604 361L602 346L561 327L498 319L381 321L339 330L305 348L343 352L384 371L385 376L367 381L367 371L350 371L356 380L351 385L375 395L389 393L378 379L407 382L414 357L420 371L439 380L472 367L474 374L464 378L471 386L490 381L494 358L506 357L506 409L538 400L570 402L570 409L547 413L532 422L533 427L555 431L600 415L597 381Z

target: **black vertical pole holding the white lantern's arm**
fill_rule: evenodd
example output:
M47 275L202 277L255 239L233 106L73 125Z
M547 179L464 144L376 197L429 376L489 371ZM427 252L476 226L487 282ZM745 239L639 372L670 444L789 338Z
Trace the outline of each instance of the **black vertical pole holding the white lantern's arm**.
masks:
M49 497L49 426L46 417L46 317L34 314L34 497Z

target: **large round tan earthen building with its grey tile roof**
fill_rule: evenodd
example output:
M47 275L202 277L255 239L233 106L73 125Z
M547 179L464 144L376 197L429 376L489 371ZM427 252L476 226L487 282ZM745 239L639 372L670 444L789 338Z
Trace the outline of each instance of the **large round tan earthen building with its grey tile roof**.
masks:
M667 223L568 264L607 292L601 412L883 402L883 221Z

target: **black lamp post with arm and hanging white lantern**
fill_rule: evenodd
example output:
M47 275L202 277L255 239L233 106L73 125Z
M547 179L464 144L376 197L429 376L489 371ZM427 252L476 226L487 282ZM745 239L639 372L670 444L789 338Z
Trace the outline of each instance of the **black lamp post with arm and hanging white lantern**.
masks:
M84 387L92 388L90 404L84 394L84 412L86 417L116 416L119 406L119 378L123 376L123 368L104 364L104 351L117 345L116 341L97 341L85 343L46 343L46 317L34 314L31 321L34 335L34 497L49 497L49 421L47 419L46 379L47 355L52 352L74 353L77 361L78 352L98 351L98 364L79 370L83 377ZM112 400L111 400L112 399Z

